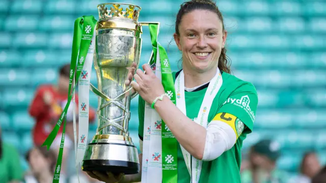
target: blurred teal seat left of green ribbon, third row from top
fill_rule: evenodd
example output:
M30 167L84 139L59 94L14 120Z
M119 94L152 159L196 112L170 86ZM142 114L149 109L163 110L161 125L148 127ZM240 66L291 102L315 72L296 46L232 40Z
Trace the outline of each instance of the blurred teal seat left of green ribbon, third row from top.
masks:
M72 46L72 33L53 33L49 36L49 47L50 48L65 48L71 49Z

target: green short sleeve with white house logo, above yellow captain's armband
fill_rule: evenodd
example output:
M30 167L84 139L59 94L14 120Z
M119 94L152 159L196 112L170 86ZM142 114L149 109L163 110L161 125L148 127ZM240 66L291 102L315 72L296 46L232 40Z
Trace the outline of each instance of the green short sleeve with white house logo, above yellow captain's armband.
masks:
M258 95L255 87L244 84L234 90L224 101L219 113L228 113L241 120L249 129L253 130L258 104Z

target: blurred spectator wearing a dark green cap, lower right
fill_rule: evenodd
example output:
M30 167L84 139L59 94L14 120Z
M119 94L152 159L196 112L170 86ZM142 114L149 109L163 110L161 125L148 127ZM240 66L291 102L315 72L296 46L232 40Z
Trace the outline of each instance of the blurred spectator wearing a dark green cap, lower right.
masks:
M285 183L286 172L276 168L280 156L280 145L271 140L262 140L251 147L249 152L249 168L241 173L242 183Z

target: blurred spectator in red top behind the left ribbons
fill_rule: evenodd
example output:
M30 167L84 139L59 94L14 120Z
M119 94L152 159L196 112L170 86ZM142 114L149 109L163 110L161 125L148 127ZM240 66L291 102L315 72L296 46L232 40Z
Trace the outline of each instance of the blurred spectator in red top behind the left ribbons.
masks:
M36 120L36 124L33 130L33 140L36 146L40 146L46 140L51 130L59 120L63 109L66 106L69 90L69 76L70 76L70 64L64 65L59 70L59 79L57 85L42 85L37 91L36 95L31 103L29 112ZM78 95L75 95L76 101L76 115L78 114ZM65 137L65 148L63 152L63 162L66 162L67 155L73 144L73 106L70 103L67 111L67 126ZM78 117L78 116L76 116ZM93 121L95 118L95 112L92 108L89 108L89 118ZM77 120L77 119L76 119ZM78 122L78 121L77 121ZM61 143L63 126L61 126L59 133L53 141L51 148L59 154L59 148ZM77 130L78 132L78 130ZM62 164L61 172L65 174L65 164Z

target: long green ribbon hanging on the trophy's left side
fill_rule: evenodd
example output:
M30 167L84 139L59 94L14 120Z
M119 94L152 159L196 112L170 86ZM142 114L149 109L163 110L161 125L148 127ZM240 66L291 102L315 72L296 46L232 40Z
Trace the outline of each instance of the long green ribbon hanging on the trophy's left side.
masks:
M65 130L66 130L66 120L65 119L66 119L66 115L67 115L67 111L68 111L71 99L73 97L72 91L75 90L76 85L77 85L77 84L75 84L71 91L73 77L75 76L76 65L77 65L76 77L79 78L80 73L82 72L82 69L84 67L88 49L91 44L91 40L93 37L93 32L94 32L96 22L97 22L97 20L94 18L94 16L82 16L82 17L77 18L74 23L74 34L73 34L72 54L71 54L71 62L70 62L70 76L69 76L69 90L68 90L67 104L66 104L56 126L53 128L50 135L46 138L45 142L42 144L42 146L46 146L47 149L49 149L53 140L55 140L55 138L59 132L62 122L64 122L57 165L56 165L56 169L55 169L55 174L53 175L53 183L59 183L59 179L60 179L62 155L63 155L63 149L64 149L64 143L65 143ZM78 58L78 60L77 60L77 58Z

